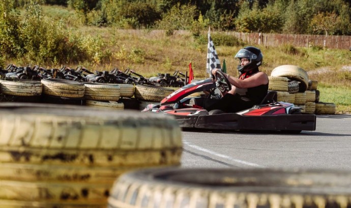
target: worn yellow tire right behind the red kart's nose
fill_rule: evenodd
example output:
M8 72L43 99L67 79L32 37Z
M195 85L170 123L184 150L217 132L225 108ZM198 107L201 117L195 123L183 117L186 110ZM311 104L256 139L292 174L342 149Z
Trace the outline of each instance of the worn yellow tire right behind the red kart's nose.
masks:
M161 102L174 90L160 86L136 85L134 97L141 101Z

